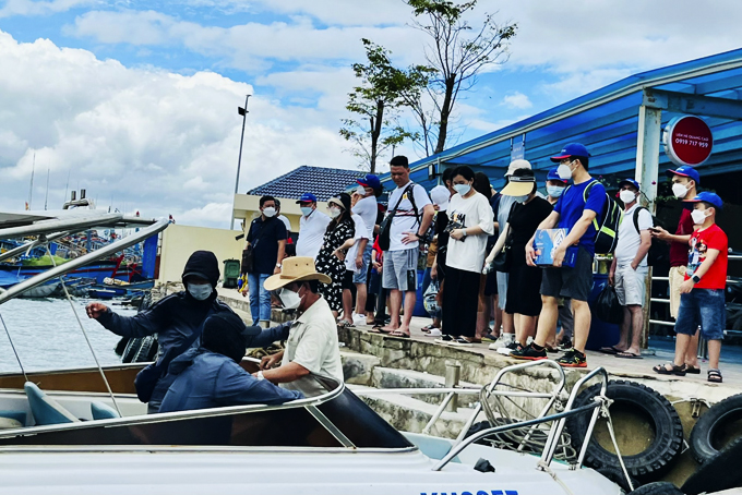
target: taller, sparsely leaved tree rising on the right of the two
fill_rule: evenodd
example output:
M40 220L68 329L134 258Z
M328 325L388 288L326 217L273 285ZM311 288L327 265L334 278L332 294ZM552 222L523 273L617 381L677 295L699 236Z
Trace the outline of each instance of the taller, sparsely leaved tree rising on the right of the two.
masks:
M434 124L438 126L433 153L441 153L445 148L448 123L459 94L476 84L477 74L484 67L507 60L508 41L515 36L517 24L499 25L493 15L486 14L481 27L472 28L464 16L474 10L477 0L465 3L446 0L405 2L412 8L416 17L427 17L424 23L416 20L415 27L432 38L432 43L426 47L426 59L434 70L428 89L433 100ZM415 108L412 111L424 129L420 113Z

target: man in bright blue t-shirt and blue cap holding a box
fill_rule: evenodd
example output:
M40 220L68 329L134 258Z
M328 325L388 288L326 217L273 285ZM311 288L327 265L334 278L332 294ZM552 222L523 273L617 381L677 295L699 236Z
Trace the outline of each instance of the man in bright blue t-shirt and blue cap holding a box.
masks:
M541 278L541 314L534 342L511 357L526 360L547 359L544 349L549 334L556 327L559 298L572 300L574 313L574 348L556 360L567 367L585 367L585 345L590 333L590 307L587 298L593 290L593 258L595 257L596 229L593 224L606 207L606 188L594 181L587 171L590 154L579 143L564 146L559 156L551 161L559 162L558 173L562 179L572 179L569 186L554 205L554 210L538 226L539 229L569 229L564 242L553 252L554 267L546 268ZM590 183L595 182L590 186ZM585 190L590 186L585 198ZM562 267L566 247L577 244L577 261L573 268ZM536 252L534 239L526 246L526 259L535 266Z

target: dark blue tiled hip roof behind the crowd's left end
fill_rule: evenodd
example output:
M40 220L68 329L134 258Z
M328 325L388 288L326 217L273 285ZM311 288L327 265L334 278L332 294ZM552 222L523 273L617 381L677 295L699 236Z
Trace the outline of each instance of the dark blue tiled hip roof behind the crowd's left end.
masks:
M271 182L259 185L248 194L254 196L277 196L298 200L303 193L312 193L319 201L327 201L354 184L366 172L303 165Z

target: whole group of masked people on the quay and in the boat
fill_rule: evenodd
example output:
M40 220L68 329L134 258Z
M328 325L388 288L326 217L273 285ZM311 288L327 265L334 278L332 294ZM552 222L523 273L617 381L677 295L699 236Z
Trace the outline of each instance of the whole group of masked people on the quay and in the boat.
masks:
M594 258L602 249L600 236L612 232L608 281L623 315L619 341L600 350L642 358L648 259L653 243L669 243L675 355L654 371L699 373L701 334L708 343L708 381L721 382L728 259L727 236L716 225L721 200L698 192L692 167L668 170L673 194L685 206L670 233L641 206L636 180L619 183L615 202L590 176L589 157L577 143L552 157L556 166L546 177L544 196L524 159L510 164L500 192L483 173L459 166L446 168L441 185L429 193L410 180L407 158L396 156L390 162L396 188L386 207L378 201L383 188L374 174L330 198L326 213L312 192L302 194L296 243L287 243L290 222L282 218L279 201L261 197L261 214L247 229L242 266L252 326L217 299L218 263L206 251L188 261L183 291L132 317L100 303L89 304L87 314L123 337L158 335L158 359L135 382L152 413L282 403L323 393L316 375L343 381L338 327L364 324L370 333L410 337L422 253L422 290L432 316L422 330L435 343L490 342L517 360L564 352L559 364L584 367ZM615 225L605 229L612 210ZM549 229L562 229L563 239L544 263L535 240ZM296 318L270 328L274 304L295 310ZM247 348L277 340L285 349L264 358L261 370L250 374L241 366Z

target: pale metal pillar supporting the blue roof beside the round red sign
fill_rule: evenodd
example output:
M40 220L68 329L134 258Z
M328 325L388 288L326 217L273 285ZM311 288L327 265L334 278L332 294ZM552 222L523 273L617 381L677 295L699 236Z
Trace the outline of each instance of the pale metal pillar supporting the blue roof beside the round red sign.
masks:
M639 107L639 122L636 142L636 176L642 184L650 214L657 212L657 180L659 178L659 144L661 137L662 110L645 105ZM642 327L642 349L646 349L649 339L649 305L651 304L651 267L645 279L644 325Z

